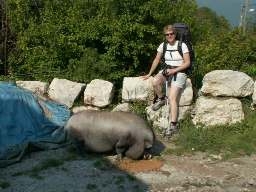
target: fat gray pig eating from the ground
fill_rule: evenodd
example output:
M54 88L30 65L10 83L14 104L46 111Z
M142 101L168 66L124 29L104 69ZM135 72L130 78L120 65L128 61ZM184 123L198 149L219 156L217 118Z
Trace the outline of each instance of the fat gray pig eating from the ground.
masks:
M75 146L82 152L109 152L116 149L118 160L124 153L131 159L149 159L155 139L152 128L131 112L82 111L74 114L67 125Z

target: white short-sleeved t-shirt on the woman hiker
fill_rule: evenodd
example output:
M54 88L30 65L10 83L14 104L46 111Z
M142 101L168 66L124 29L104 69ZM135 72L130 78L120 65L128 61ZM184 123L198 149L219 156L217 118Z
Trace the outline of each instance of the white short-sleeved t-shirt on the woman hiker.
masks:
M160 53L163 53L163 46L164 46L164 42L160 44L157 51ZM188 47L185 43L181 44L181 48L182 48L183 54L188 53ZM174 45L167 44L167 50L178 50L178 41L176 41ZM165 58L166 64L170 66L176 67L184 63L184 60L178 51L172 51L172 52L166 51L164 58Z

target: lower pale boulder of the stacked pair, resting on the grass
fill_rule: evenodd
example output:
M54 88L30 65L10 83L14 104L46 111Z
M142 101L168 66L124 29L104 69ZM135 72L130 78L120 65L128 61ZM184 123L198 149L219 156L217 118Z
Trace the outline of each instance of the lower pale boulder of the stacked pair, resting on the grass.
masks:
M215 98L200 96L196 101L194 124L206 125L235 124L244 119L241 102L236 98Z

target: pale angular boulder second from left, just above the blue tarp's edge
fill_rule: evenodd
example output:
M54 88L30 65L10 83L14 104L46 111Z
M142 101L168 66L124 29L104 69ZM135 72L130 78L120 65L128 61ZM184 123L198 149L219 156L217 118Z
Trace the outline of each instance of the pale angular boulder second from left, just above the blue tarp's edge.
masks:
M54 78L48 90L48 96L71 108L74 100L82 94L86 84L72 82L66 79Z

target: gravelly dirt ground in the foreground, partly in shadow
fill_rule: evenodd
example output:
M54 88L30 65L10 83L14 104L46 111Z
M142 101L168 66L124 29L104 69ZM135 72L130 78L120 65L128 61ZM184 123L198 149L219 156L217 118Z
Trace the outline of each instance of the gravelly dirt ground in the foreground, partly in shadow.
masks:
M161 155L173 143L158 138L151 150L152 160L116 162L116 156L65 161L63 165L37 173L12 174L39 167L45 159L68 156L65 148L31 152L20 162L0 169L0 184L10 184L0 192L254 192L256 155L232 158L206 153ZM113 168L112 165L119 168Z

